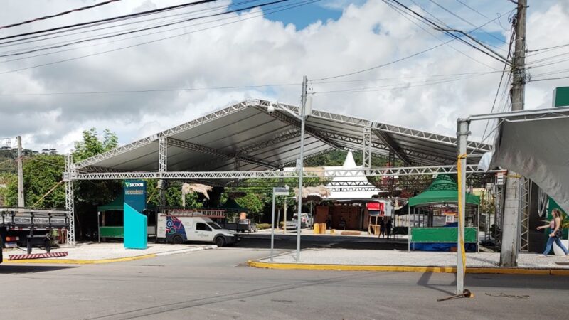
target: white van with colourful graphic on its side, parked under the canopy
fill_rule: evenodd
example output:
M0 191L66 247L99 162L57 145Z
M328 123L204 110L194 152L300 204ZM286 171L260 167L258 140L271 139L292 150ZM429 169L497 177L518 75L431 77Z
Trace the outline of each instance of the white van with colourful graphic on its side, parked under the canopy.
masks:
M223 229L210 218L196 215L158 215L158 240L213 242L218 247L234 245L240 239L235 231Z

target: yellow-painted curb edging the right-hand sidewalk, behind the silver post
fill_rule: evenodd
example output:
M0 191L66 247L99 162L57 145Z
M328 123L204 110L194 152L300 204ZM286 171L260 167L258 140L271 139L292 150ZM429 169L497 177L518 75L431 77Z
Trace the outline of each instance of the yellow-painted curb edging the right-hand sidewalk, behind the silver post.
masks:
M378 272L435 272L456 273L456 267L405 266L405 265L314 265L307 263L276 263L249 260L250 267L280 270L336 270L336 271L378 271ZM569 276L567 269L529 269L501 267L467 267L472 274L533 274Z

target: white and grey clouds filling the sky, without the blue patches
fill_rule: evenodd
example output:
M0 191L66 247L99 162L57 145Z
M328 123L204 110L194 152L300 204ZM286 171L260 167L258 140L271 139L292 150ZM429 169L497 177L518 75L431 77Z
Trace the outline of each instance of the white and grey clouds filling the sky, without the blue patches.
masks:
M40 4L33 2L33 6L23 4L25 2L31 4L31 1L6 2L4 10L0 12L0 21L4 23L23 21L26 18L77 6L77 1L50 1ZM10 32L2 31L0 36L128 14L153 7L179 4L183 1L168 1L167 4L165 2L147 0L143 4L135 4L133 1L120 1L117 4L102 6L100 9L9 29ZM460 6L457 1L438 2L456 9L457 13L477 25L486 20L472 10ZM499 4L494 2L477 2L475 9L491 18L495 17L496 12L503 13L514 9L514 5L508 1L500 1ZM228 3L225 1L225 4ZM90 58L0 75L0 82L3 84L0 87L0 94L299 83L302 75L314 80L329 75L349 73L381 65L440 43L381 1L368 1L351 6L342 4L341 8L344 11L338 21L313 23L300 31L290 24L285 26L283 23L265 18L245 20L260 14L260 11L255 9L242 13L243 21L240 23ZM431 5L425 4L425 9L449 21L453 26L465 30L472 28L464 21L459 21ZM539 1L532 4L528 11L528 48L569 43L569 34L562 32L563 26L569 23L568 10L562 1ZM238 18L236 14L233 14L233 17L233 19ZM213 24L223 22L228 21L218 21ZM508 27L507 18L502 18L501 23ZM89 46L13 63L0 62L0 72L174 36L213 24L188 26L184 30L121 42L110 42L116 39L109 39L100 46ZM378 33L374 33L374 30L378 30ZM486 30L509 33L502 30L499 23L489 24ZM437 36L444 38L440 34ZM87 44L81 46L85 45ZM30 43L21 48L27 46L35 44ZM490 111L499 73L477 75L467 77L467 80L442 82L438 85L424 85L425 81L445 79L429 78L432 75L492 71L471 58L496 70L501 70L502 65L456 41L452 46L462 53L457 53L450 46L442 46L385 68L338 79L369 81L313 83L312 88L317 92L314 95L314 107L454 135L457 117ZM506 45L501 47L506 48ZM0 48L0 52L13 49L14 47ZM528 61L566 53L568 50L569 48L553 50L551 53L536 55L535 59L530 57ZM569 68L566 61L530 71L536 75L563 68ZM563 80L531 82L526 92L527 107L550 106L553 87L563 83ZM399 84L407 85L409 88L385 90L385 86L399 87ZM378 91L318 93L364 87L378 87ZM73 146L73 140L80 138L81 130L97 127L100 131L109 128L117 132L120 142L124 144L248 97L266 97L297 104L299 92L299 86L287 86L272 87L267 90L250 88L105 95L1 95L0 119L3 120L3 125L0 127L0 137L21 134L26 137L24 139L26 147L34 149L53 147L60 151L68 151ZM482 135L483 127L484 124L477 124L473 128L473 133Z

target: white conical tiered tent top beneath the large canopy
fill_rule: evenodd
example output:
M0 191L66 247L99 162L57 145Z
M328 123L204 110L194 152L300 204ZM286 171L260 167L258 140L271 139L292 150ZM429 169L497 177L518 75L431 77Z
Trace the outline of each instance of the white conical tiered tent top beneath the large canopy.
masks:
M346 159L344 160L344 165L342 166L327 166L326 170L331 169L363 169L362 166L357 166L356 161L353 159L353 154L348 152ZM341 191L342 186L345 185L346 191ZM357 187L360 191L349 191L349 188ZM331 183L326 185L331 192L329 196L325 199L329 200L357 200L357 199L371 199L372 196L377 196L380 192L376 186L369 183L368 178L365 176L336 176L332 179ZM332 190L334 189L334 190ZM363 189L363 190L362 190Z

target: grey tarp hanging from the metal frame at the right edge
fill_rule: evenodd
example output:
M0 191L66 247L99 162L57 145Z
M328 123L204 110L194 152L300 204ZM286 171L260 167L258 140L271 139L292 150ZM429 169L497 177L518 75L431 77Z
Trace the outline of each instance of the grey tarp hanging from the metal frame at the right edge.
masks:
M530 178L569 212L569 119L501 123L491 168Z

